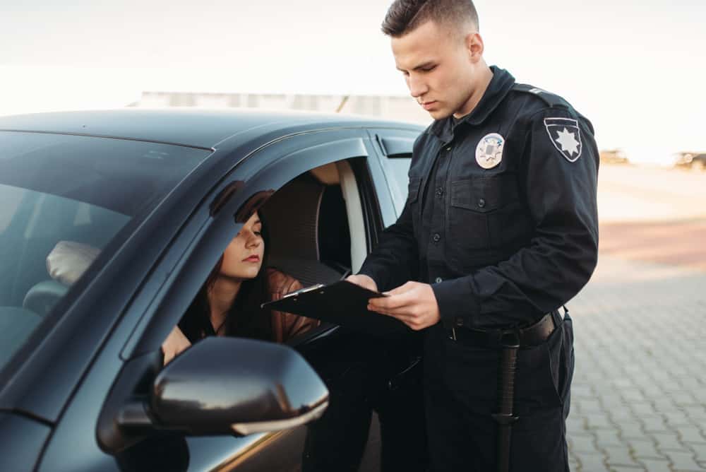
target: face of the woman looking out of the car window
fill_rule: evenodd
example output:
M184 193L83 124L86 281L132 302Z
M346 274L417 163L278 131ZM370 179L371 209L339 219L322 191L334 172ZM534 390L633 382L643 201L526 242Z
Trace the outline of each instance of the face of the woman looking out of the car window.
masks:
M258 275L265 253L261 231L260 216L254 213L225 248L220 275L241 280Z

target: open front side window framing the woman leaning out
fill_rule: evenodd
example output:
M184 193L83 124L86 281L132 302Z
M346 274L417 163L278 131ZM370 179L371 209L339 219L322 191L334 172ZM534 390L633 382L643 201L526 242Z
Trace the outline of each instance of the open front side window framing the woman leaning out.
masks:
M347 160L304 172L243 218L243 227L222 248L201 290L164 340L165 362L214 334L297 343L321 322L265 313L260 305L302 287L339 281L366 254L359 189ZM233 301L222 303L225 299Z

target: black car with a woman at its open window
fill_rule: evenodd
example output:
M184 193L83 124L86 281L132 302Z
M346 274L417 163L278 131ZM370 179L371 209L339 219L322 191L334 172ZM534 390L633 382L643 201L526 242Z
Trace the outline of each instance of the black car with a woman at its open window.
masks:
M0 469L295 471L359 441L378 470L364 386L372 367L385 394L418 381L413 331L206 338L164 367L160 346L258 208L304 285L357 271L402 211L421 131L258 110L1 117ZM72 283L47 269L58 244L96 249Z

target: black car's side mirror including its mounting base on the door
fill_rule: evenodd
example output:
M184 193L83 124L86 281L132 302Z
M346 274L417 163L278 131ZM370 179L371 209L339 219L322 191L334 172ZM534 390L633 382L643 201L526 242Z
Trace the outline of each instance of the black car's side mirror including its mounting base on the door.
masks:
M97 429L105 452L159 430L208 436L285 430L321 417L328 406L321 378L280 344L214 336L161 370L155 360L128 362L109 394Z

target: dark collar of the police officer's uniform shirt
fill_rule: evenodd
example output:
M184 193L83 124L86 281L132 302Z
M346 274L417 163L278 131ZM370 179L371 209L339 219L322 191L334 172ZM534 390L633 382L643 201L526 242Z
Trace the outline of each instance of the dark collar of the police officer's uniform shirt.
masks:
M503 98L508 94L510 88L513 88L513 85L515 85L515 78L508 71L505 71L505 69L500 69L497 66L491 66L490 69L493 71L493 78L491 78L488 88L481 97L481 100L472 112L463 117L456 126L462 126L464 123L478 125L484 122L493 110L500 105L500 102L503 101ZM453 139L454 128L453 117L446 117L433 122L431 132L442 141L448 143Z

